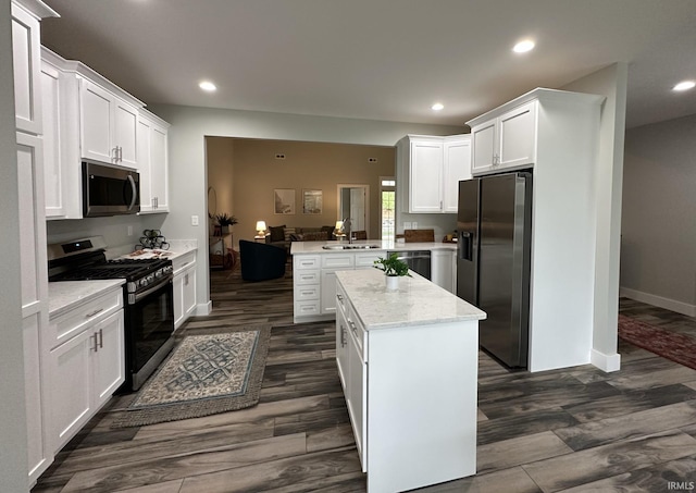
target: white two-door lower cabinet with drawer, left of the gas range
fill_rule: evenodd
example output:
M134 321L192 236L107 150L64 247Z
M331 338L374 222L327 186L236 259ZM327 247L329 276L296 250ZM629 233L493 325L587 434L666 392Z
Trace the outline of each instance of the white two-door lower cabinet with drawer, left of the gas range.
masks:
M112 292L121 289L115 286ZM49 353L47 428L53 451L64 446L125 381L123 301L121 298L120 306L112 306L111 294L99 297L104 306L97 313L90 305L80 306L49 322L89 320L82 331Z

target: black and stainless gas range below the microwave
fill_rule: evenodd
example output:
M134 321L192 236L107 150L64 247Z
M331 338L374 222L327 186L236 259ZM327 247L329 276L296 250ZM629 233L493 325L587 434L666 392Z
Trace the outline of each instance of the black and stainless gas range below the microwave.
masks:
M107 259L101 236L49 245L49 281L124 279L126 381L137 391L174 345L172 261L164 258Z

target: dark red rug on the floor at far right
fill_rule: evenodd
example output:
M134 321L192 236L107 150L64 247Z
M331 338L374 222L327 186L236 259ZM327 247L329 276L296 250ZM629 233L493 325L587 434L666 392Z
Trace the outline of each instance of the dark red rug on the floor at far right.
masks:
M666 331L623 315L619 316L619 337L696 370L696 340L693 337Z

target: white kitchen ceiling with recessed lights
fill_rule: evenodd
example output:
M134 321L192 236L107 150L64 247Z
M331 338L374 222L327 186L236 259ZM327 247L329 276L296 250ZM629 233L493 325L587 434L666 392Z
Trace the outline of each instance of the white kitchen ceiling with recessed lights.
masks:
M696 113L695 0L45 1L44 44L146 103L462 125L627 62L627 126Z

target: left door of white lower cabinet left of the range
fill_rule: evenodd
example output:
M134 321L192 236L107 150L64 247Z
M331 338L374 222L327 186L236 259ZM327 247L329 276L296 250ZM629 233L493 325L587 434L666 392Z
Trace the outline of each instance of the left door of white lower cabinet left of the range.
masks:
M94 333L89 330L50 353L47 389L51 409L51 446L58 451L84 427L91 416L91 362Z

